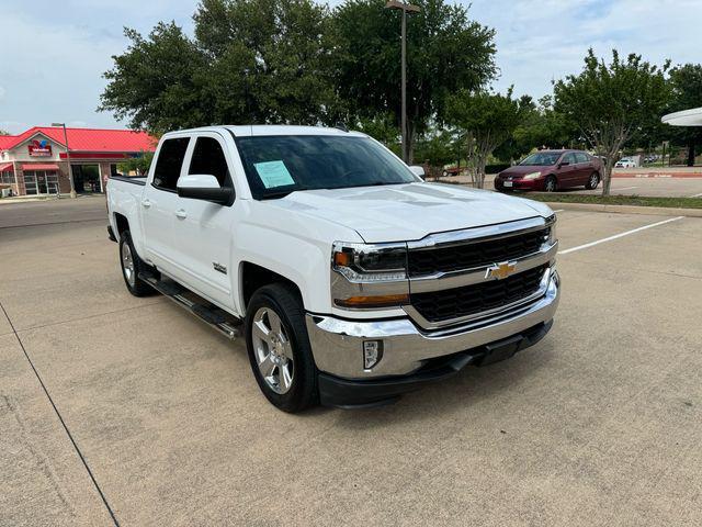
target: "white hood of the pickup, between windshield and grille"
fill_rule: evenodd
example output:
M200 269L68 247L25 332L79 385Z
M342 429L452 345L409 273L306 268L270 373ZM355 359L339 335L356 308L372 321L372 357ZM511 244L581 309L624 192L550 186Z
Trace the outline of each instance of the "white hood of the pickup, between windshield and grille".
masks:
M307 190L276 201L353 228L372 244L421 239L432 233L546 216L551 211L521 198L434 183Z

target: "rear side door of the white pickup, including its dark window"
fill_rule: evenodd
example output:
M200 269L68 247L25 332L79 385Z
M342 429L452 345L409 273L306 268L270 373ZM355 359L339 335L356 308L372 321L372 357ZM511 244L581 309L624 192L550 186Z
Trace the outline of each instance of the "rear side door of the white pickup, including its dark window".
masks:
M146 256L159 269L172 272L176 269L176 246L172 224L178 208L176 184L183 171L183 160L190 137L163 139L156 153L152 168L141 194L141 220Z

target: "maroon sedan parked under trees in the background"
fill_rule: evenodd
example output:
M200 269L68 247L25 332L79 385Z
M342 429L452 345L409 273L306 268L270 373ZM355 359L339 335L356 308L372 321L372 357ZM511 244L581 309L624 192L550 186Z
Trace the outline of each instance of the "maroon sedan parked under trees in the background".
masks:
M579 186L597 189L601 173L601 159L587 152L541 150L498 173L495 178L495 189L546 192Z

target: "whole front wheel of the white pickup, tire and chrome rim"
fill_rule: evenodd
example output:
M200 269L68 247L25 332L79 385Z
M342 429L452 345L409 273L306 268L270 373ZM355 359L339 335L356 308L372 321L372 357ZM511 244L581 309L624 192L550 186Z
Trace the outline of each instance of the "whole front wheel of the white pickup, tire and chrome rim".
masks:
M316 404L317 369L297 291L283 283L256 291L245 328L249 362L263 395L290 413Z

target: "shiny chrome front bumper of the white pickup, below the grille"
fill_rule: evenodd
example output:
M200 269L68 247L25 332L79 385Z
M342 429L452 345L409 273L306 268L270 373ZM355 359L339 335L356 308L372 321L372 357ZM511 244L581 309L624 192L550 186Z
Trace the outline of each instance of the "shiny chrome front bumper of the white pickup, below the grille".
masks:
M558 305L559 278L552 272L540 299L509 312L471 324L422 330L409 317L383 321L350 321L307 314L307 333L319 371L344 379L406 375L429 359L484 346L550 322ZM363 341L383 340L383 358L372 369L363 368Z

